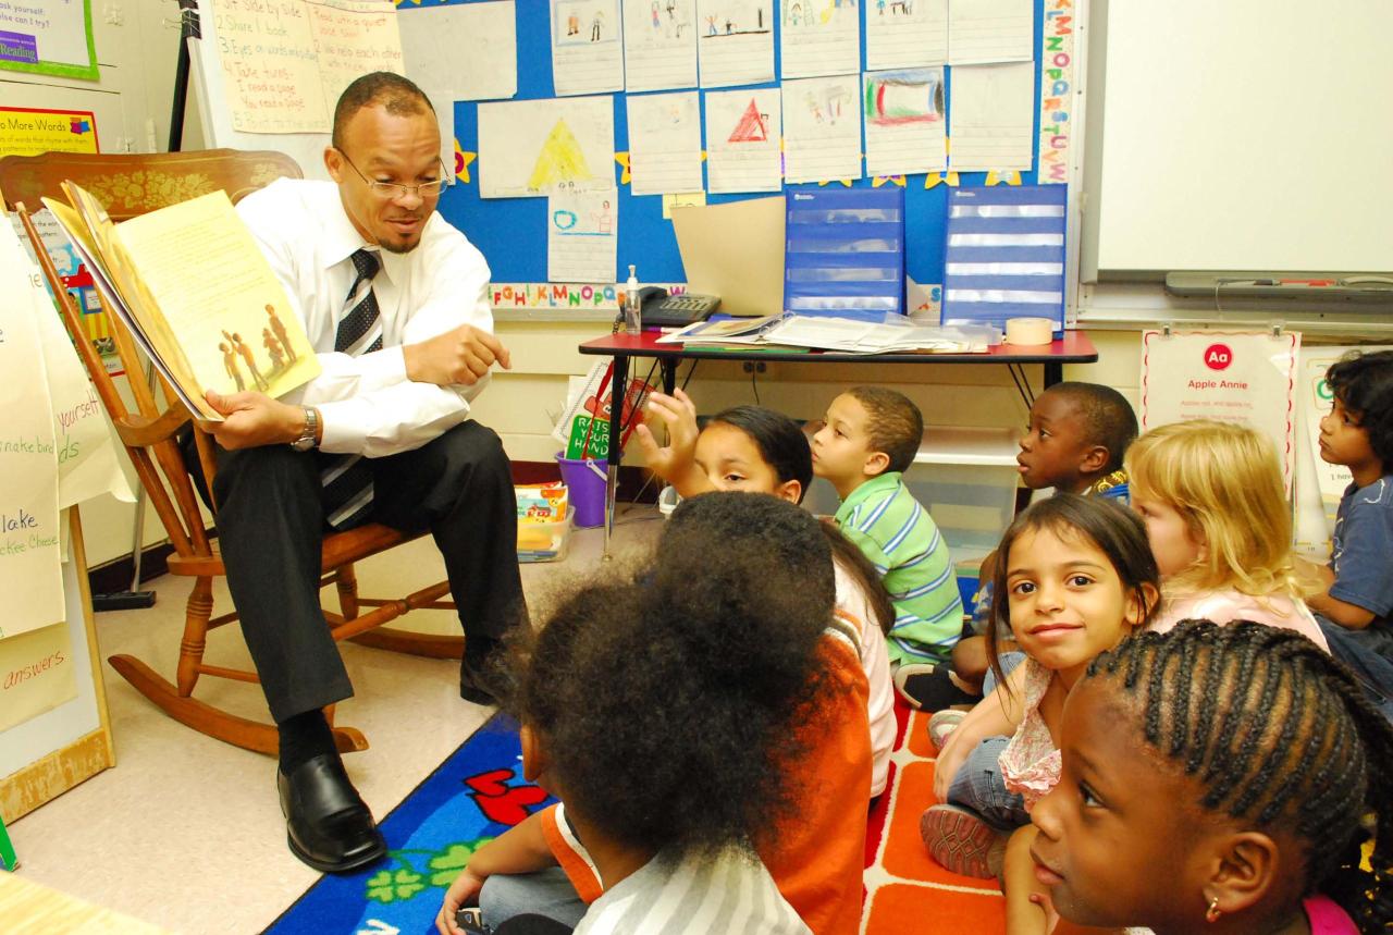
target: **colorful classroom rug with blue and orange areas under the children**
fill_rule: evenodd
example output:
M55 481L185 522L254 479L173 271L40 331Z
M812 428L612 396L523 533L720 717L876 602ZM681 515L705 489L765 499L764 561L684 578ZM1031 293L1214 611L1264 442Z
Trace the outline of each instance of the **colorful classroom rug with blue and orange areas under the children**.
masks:
M890 782L866 835L861 932L1002 932L1006 914L996 883L950 874L919 840L919 815L933 801L928 715L897 708L896 716ZM469 854L549 801L522 782L521 766L517 725L495 715L382 821L386 863L323 876L267 934L433 932L444 889Z

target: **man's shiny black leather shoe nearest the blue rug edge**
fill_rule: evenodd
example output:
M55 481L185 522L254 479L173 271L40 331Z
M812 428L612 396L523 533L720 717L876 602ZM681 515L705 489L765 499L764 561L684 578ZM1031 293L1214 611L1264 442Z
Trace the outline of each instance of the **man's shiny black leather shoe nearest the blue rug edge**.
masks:
M372 812L348 782L337 754L320 754L276 771L290 851L325 874L366 867L387 853Z

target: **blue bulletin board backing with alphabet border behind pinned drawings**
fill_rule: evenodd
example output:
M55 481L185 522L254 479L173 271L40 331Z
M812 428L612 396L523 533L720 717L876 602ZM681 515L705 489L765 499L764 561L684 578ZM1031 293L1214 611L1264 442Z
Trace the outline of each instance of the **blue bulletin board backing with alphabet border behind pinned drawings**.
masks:
M875 10L875 3L859 4L864 17ZM1041 166L1039 145L1042 138L1048 142L1046 150L1050 156L1048 174L1063 180L1068 145L1068 107L1074 99L1073 93L1073 10L1070 0L1035 0L1034 17L1034 49L1035 49L1035 127L1034 141L1034 169L1020 173L1021 184L1034 185L1038 181ZM404 3L398 7L403 17L426 17L437 4L412 6ZM775 74L781 74L779 61L779 24L776 3L776 35L775 35ZM518 50L518 93L515 100L552 98L552 50L547 0L517 0L517 50ZM1042 33L1049 21L1049 31L1055 36L1043 40ZM1059 33L1064 33L1060 39ZM1043 43L1043 45L1042 45ZM865 29L862 28L861 65L865 67ZM944 68L947 93L949 130L951 131L951 85L953 67ZM1050 95L1046 102L1048 120L1057 132L1041 134L1041 102L1042 85ZM751 88L776 88L779 82L762 85L745 85ZM715 91L730 91L720 88ZM662 92L659 92L662 93ZM705 114L706 89L701 89L702 107ZM614 107L614 152L628 152L628 127L625 117L624 92L612 95ZM464 153L478 153L478 109L475 102L457 102L454 106L456 141ZM864 130L862 130L864 132ZM1053 141L1053 142L1050 142ZM950 139L951 144L951 139ZM864 152L864 148L862 148ZM864 164L864 163L862 163ZM460 183L446 190L440 198L440 213L453 224L460 227L468 238L483 252L493 270L496 283L545 283L547 279L547 251L546 251L546 198L489 198L479 196L478 162L467 166L469 181ZM628 263L638 268L638 277L642 281L685 281L681 258L677 251L677 241L673 234L671 222L663 217L662 195L635 196L630 194L628 184L620 184L623 169L613 166L618 201L618 269L627 270ZM1053 170L1053 171L1052 171ZM947 176L947 173L943 173ZM932 178L937 178L935 173ZM963 185L993 184L996 178L989 178L989 173L957 173ZM905 273L921 284L940 284L943 281L943 248L944 248L944 215L947 205L949 183L939 181L933 187L925 187L924 174L904 178L905 201ZM841 187L840 183L832 183ZM858 187L876 184L872 178L859 178L853 183ZM880 184L897 184L896 181L880 181ZM786 185L784 190L818 188L811 185ZM761 198L765 195L708 195L708 203L722 203L740 201L744 198ZM623 276L617 279L621 281Z

